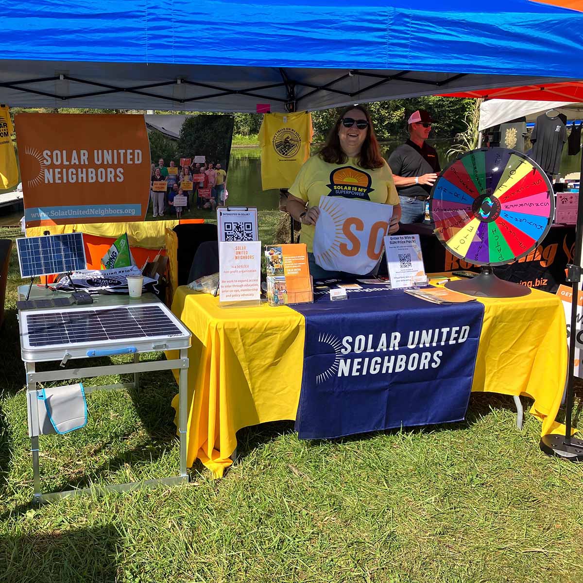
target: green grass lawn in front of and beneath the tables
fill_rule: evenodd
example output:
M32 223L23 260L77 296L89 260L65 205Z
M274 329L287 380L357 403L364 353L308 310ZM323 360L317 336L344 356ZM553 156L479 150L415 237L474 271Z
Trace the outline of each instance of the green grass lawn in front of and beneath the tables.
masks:
M271 242L280 215L260 217ZM14 253L0 368L2 583L583 581L583 466L543 455L539 422L527 415L519 432L511 399L497 395L473 395L466 422L422 430L299 441L291 422L249 427L222 480L197 462L188 485L34 507L17 265ZM155 373L137 393L89 395L85 429L41 439L44 489L177 473L176 392L170 373Z

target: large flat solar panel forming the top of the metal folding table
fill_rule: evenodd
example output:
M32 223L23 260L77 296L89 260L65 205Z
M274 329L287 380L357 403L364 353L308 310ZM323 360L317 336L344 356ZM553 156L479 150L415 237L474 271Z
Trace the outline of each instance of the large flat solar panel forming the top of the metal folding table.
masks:
M27 312L26 332L31 347L184 336L172 319L152 304Z

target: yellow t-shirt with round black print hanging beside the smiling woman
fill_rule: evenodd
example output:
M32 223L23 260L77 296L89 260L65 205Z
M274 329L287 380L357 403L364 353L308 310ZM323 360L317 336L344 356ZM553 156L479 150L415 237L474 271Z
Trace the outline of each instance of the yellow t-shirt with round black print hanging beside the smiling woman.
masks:
M263 189L289 188L301 165L310 157L312 115L266 113L259 129Z

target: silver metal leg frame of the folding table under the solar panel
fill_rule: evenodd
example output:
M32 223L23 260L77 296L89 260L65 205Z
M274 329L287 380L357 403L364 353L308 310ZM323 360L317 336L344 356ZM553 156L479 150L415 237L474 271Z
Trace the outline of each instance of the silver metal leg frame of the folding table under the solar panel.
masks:
M26 286L23 286L26 287ZM20 289L19 289L20 292ZM36 297L47 297L48 294L42 292L37 292L34 294ZM152 301L150 294L149 297L143 297L142 301ZM119 300L120 298L116 298ZM113 304L113 302L105 301L106 304ZM140 303L138 301L138 303ZM124 302L121 302L124 304ZM103 303L101 303L103 305ZM79 378L87 377L98 377L107 374L128 374L134 373L134 382L129 383L119 383L114 385L102 385L102 386L90 386L84 385L85 394L90 394L94 391L120 391L124 389L139 389L139 375L140 373L148 373L151 371L158 370L173 370L177 368L180 370L179 381L178 381L178 399L180 403L180 413L179 413L179 427L178 433L180 435L180 473L177 476L161 477L150 480L143 480L142 482L129 482L124 484L107 484L90 486L86 488L64 490L60 492L43 493L40 484L40 464L39 464L39 453L40 444L39 438L31 437L31 453L33 461L33 481L34 481L34 495L33 501L36 503L46 503L55 500L60 500L61 498L72 497L72 496L82 496L84 494L104 494L107 491L129 491L129 490L139 490L142 488L153 488L160 485L174 485L182 482L188 482L187 473L187 409L188 409L188 347L180 349L180 357L173 360L155 360L155 361L140 361L140 354L147 354L149 352L157 352L159 350L164 350L165 345L161 344L155 347L155 350L143 350L134 354L134 362L127 364L111 364L109 366L89 366L81 368L55 368L53 370L38 372L36 371L36 363L24 361L24 367L26 369L26 389L27 389L27 399L30 399L31 392L37 390L37 384L47 381L68 381L68 380L78 380ZM29 407L31 412L31 422L33 426L38 427L38 408L36 406Z

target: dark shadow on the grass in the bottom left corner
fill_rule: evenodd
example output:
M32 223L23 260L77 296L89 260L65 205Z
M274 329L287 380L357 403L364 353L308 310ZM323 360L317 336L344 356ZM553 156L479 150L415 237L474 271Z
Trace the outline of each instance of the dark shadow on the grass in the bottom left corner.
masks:
M120 536L113 525L0 538L2 583L117 580Z

